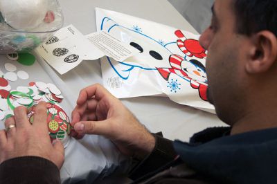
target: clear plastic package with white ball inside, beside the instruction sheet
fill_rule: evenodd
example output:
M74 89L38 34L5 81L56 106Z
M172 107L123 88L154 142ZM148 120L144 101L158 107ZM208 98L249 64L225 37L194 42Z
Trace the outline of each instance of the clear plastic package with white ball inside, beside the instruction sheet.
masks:
M62 25L57 0L0 0L0 53L28 52Z

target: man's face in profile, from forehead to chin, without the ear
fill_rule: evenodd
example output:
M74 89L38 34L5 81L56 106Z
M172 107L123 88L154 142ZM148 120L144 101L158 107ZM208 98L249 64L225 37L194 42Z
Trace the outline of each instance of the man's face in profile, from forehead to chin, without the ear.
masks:
M247 38L238 35L235 29L235 14L232 0L215 0L213 18L200 37L200 44L208 55L206 73L208 77L208 100L215 105L217 116L231 123L230 111L242 96L243 50L247 49Z

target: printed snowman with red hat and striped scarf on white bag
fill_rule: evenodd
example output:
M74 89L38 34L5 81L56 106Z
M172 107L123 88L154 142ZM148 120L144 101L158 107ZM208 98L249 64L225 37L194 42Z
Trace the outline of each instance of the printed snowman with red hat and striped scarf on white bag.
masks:
M156 72L156 76L161 77L159 80L168 81L170 75L177 75L192 89L197 89L202 100L207 100L206 70L199 62L199 59L206 57L206 50L196 39L187 39L181 30L175 30L172 33L175 40L165 43L146 35L139 26L121 26L109 17L102 19L100 28L140 51L124 62L107 57L111 68L122 80L128 80L132 71L138 68Z

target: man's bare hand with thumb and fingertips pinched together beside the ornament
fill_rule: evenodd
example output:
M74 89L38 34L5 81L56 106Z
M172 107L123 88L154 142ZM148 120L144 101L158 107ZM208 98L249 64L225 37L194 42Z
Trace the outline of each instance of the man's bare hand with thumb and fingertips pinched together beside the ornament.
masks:
M152 134L100 84L80 91L72 112L72 136L98 134L109 138L127 156L143 158L155 145Z

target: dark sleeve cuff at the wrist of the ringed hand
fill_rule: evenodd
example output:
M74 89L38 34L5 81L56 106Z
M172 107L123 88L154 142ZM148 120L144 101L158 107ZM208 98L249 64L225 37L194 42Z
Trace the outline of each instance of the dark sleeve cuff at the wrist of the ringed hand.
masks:
M60 171L50 160L22 156L0 165L0 183L60 183Z

